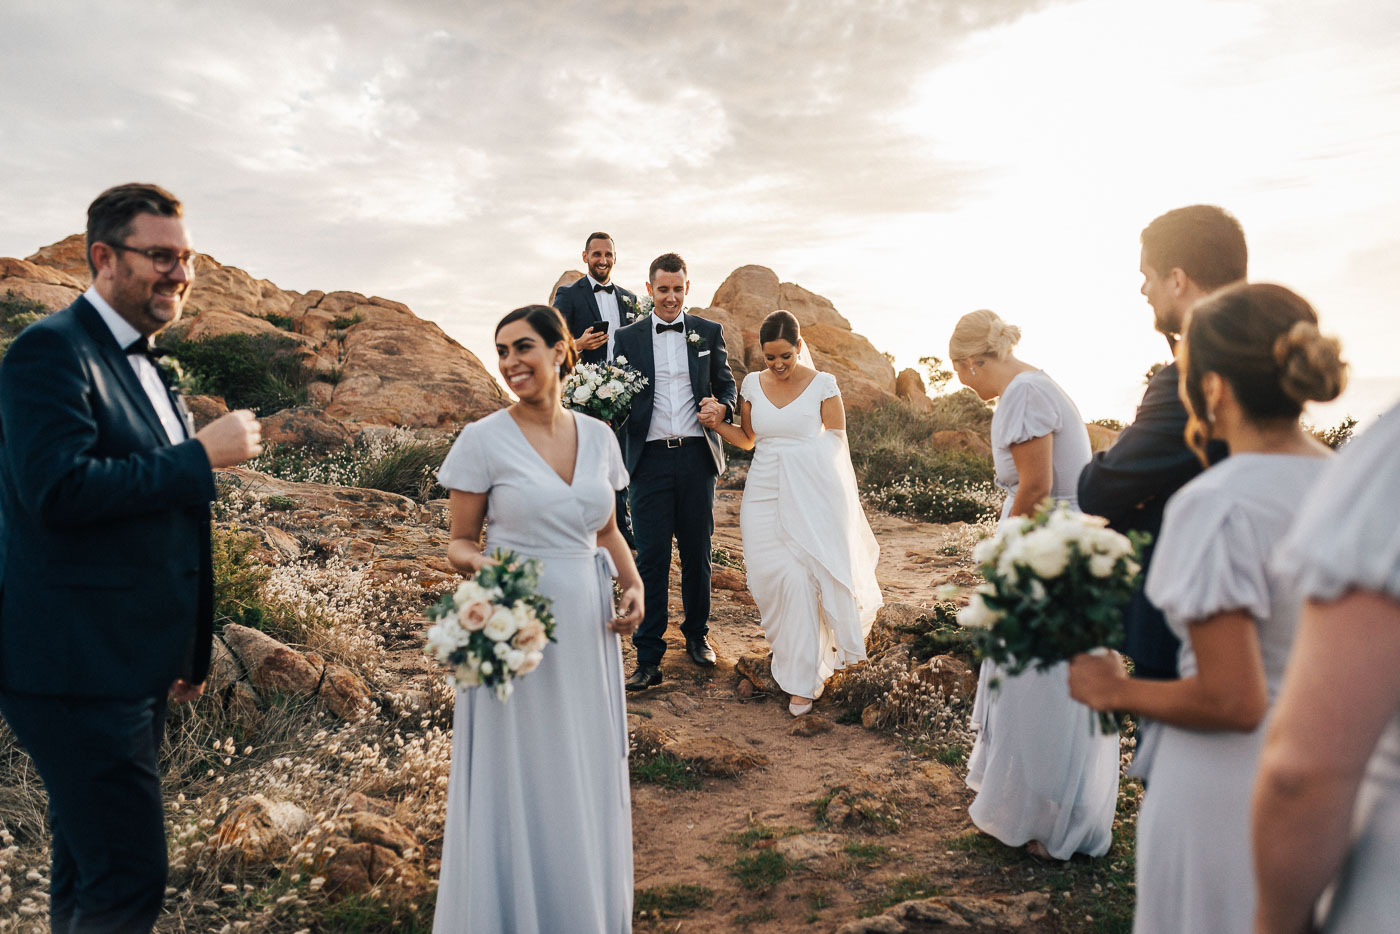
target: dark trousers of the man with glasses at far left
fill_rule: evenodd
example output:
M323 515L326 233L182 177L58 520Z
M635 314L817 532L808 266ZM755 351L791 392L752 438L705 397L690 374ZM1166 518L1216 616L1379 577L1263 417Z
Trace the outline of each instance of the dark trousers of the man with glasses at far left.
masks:
M0 693L49 793L53 934L146 934L165 896L165 697Z

